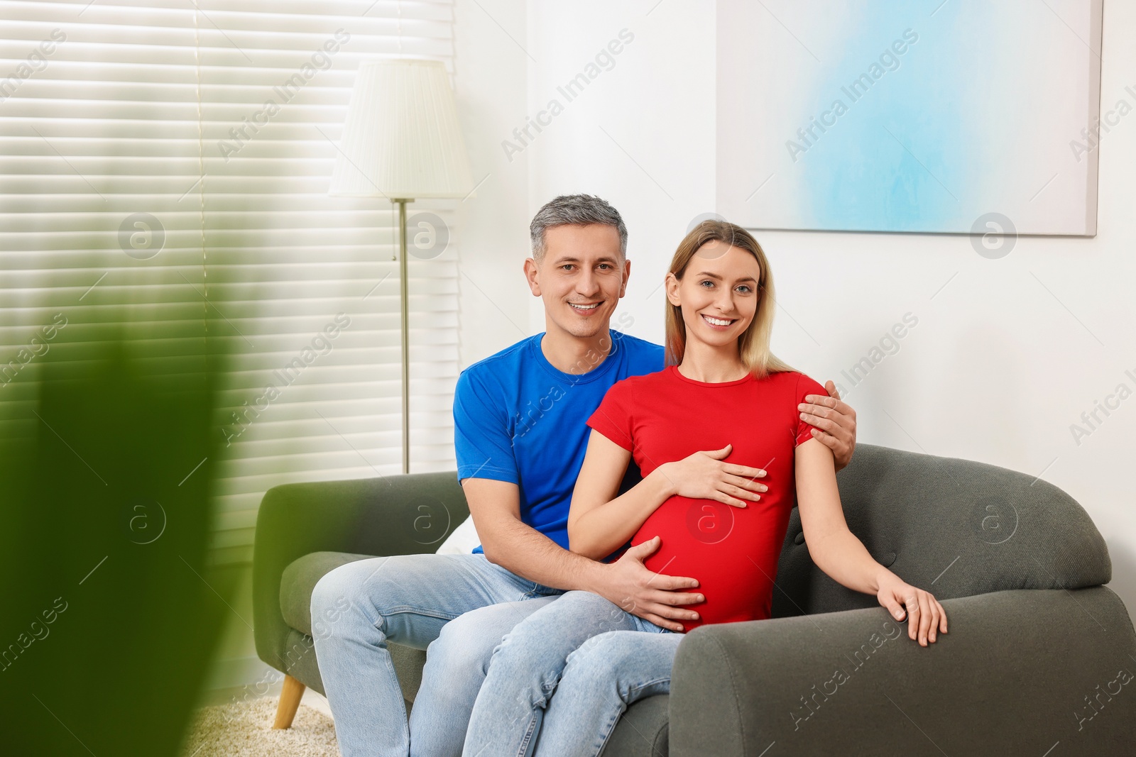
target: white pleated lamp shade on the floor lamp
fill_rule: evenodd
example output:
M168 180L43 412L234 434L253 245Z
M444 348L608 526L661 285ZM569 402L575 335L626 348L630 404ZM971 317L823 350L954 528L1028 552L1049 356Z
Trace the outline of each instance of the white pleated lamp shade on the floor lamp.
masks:
M473 188L445 66L361 62L328 194L466 197Z

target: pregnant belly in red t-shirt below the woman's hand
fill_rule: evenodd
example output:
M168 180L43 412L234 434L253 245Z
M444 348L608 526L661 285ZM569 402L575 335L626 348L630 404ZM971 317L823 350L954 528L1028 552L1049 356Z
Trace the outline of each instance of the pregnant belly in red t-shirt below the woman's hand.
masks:
M698 621L682 621L687 631L705 623L769 617L777 558L788 525L788 508L762 502L732 507L709 499L671 497L632 538L641 544L655 536L658 552L648 569L699 581L705 602L690 605Z

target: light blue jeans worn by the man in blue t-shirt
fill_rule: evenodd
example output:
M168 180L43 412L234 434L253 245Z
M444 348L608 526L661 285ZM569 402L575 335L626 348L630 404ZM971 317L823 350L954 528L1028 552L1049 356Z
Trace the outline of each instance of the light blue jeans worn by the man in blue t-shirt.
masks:
M343 757L460 755L493 649L560 594L481 554L374 557L324 575L312 633ZM427 650L409 724L387 641Z

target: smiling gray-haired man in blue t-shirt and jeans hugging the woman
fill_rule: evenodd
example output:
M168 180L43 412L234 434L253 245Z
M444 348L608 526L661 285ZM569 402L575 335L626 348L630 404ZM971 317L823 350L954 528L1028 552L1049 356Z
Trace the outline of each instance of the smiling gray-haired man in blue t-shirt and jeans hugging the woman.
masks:
M568 552L568 507L584 460L587 418L616 381L662 370L663 348L610 328L627 288L627 229L591 195L556 197L533 218L525 276L544 301L545 333L466 369L453 399L458 479L482 539L470 555L400 555L336 567L317 583L312 619L327 619L316 654L344 757L460 755L493 649L519 621L570 589L586 589L682 631L695 578L657 574L658 539L596 562ZM855 413L810 396L837 466L855 446ZM724 498L765 490L762 471L682 461L682 478L713 481ZM634 483L636 472L624 481ZM673 491L660 491L663 502ZM344 612L350 605L351 611ZM332 620L334 619L334 620ZM409 724L386 642L428 648Z

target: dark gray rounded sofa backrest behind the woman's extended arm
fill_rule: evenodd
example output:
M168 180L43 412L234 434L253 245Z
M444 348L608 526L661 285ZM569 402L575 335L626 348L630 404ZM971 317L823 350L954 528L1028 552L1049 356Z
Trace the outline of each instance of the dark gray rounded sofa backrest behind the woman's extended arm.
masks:
M871 556L938 599L1004 589L1108 583L1112 564L1088 513L1031 476L954 457L857 445L837 474L849 529ZM774 589L775 617L878 607L809 555L793 508Z

